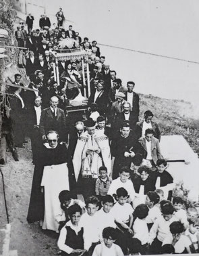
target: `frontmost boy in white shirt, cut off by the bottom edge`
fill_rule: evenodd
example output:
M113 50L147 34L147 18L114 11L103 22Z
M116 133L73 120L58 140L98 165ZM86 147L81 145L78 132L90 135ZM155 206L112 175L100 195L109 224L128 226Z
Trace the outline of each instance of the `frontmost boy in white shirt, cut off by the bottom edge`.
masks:
M92 256L123 256L121 248L117 244L114 244L116 236L114 228L105 228L103 230L103 242L96 245Z

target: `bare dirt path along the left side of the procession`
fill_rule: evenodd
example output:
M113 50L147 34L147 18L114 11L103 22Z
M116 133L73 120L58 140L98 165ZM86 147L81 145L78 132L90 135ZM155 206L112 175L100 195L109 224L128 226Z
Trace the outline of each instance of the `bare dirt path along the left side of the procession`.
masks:
M7 152L7 164L1 167L11 223L10 249L18 250L19 256L57 255L57 234L43 232L38 223L28 224L26 221L34 171L30 141L25 149L18 148L18 153L20 161L15 162ZM6 224L5 209L1 208L0 213L1 223Z

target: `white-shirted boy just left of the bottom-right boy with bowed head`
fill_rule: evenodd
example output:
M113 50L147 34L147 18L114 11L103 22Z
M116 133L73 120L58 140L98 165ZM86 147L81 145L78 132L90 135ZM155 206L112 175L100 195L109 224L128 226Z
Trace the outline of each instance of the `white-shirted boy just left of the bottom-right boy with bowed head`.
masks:
M173 221L177 221L173 216L174 208L170 201L161 202L161 217L154 221L149 232L149 243L151 244L150 253L158 254L161 251L163 240L171 234L169 226Z

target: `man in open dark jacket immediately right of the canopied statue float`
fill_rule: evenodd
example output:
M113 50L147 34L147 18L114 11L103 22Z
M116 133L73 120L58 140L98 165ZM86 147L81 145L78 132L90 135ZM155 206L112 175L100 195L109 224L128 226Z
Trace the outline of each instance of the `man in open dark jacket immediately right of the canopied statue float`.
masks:
M91 103L96 103L99 108L99 112L101 115L105 116L107 113L107 106L109 104L108 94L104 91L105 82L103 80L98 81L98 85L96 85L96 89L90 94L88 98L88 106Z

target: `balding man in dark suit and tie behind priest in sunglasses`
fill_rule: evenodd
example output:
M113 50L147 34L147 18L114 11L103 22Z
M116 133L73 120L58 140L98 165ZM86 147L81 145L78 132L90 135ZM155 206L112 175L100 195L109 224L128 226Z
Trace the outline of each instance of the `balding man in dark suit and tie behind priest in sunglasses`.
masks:
M49 130L57 131L60 142L67 141L65 129L65 113L61 108L57 108L59 100L53 96L50 100L50 107L42 110L40 117L40 133L42 139L46 140L46 133Z

